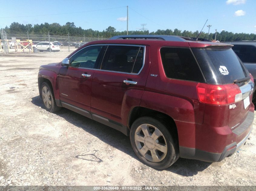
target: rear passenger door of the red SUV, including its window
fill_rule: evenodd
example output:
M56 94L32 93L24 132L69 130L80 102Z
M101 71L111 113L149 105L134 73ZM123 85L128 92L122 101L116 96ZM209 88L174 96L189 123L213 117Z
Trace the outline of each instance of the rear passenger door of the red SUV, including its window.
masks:
M91 113L94 120L109 126L113 121L120 125L125 117L121 116L122 105L134 92L138 92L136 96L140 100L149 71L145 54L149 57L149 47L108 45L102 64L92 79Z

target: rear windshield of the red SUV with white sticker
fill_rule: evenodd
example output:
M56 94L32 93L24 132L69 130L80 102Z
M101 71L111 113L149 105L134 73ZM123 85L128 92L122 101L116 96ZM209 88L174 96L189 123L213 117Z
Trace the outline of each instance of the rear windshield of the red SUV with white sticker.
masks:
M244 65L231 48L192 50L208 84L231 84L248 76Z

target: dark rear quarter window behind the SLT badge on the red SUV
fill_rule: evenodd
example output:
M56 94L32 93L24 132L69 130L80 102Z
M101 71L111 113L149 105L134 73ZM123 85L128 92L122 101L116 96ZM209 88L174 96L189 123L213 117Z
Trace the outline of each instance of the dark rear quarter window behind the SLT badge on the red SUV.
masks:
M167 78L204 82L200 68L189 48L163 47L160 53Z

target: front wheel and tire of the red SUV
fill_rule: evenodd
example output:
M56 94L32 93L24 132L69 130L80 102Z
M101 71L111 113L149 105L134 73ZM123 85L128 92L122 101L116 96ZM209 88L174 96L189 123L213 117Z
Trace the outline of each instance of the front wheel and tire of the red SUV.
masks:
M41 98L47 111L56 112L61 109L56 105L52 87L46 82L41 85Z

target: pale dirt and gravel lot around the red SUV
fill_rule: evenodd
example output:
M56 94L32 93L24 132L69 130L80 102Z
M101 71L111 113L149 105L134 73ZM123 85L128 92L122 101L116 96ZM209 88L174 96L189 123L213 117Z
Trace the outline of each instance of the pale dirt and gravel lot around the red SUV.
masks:
M179 159L155 170L138 161L121 132L64 108L48 113L38 93L38 68L68 54L67 47L0 53L0 186L256 185L255 128L224 161Z

